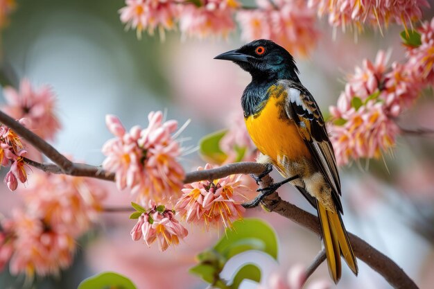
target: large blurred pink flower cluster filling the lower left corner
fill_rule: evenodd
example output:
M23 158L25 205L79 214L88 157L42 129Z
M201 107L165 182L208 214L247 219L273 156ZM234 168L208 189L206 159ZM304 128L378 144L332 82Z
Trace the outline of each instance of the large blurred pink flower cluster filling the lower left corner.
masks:
M83 235L107 195L94 179L34 173L22 190L25 211L1 222L0 270L10 261L12 274L58 274L67 268Z

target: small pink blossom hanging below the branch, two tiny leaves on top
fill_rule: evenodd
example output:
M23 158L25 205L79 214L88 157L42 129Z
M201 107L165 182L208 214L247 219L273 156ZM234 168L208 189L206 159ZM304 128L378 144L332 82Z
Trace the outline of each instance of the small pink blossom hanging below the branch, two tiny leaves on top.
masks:
M139 240L143 236L148 246L157 240L160 251L165 251L169 245L179 244L180 239L189 234L175 219L174 211L166 209L163 205L157 206L150 200L148 210L137 204L134 204L134 207L139 209L135 213L139 216L137 224L131 230L132 240Z

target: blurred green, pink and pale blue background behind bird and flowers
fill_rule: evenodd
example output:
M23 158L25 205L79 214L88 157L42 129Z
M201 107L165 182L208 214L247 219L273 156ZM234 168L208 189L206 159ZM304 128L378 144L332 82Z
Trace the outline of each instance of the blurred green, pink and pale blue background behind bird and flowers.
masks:
M431 5L433 5L431 3ZM60 152L74 159L99 165L101 146L112 135L105 127L105 114L116 114L125 128L146 126L148 112L164 110L167 119L191 123L183 132L185 146L196 147L205 134L227 128L229 114L242 114L239 99L250 76L215 55L235 49L243 42L239 31L227 40L181 40L177 32L146 33L137 40L134 30L125 32L118 10L121 0L21 0L3 29L3 62L15 71L15 85L26 77L33 85L49 84L58 96L62 130L53 141ZM425 10L431 19L432 11ZM318 22L322 35L308 59L297 59L303 84L317 99L323 112L336 104L345 83L363 58L374 60L379 49L391 49L391 60L401 60L404 49L391 26L384 35L366 30L354 40L351 33L333 31L326 19ZM405 128L434 130L434 102L431 91L400 119ZM362 161L341 168L345 225L368 243L390 256L420 288L434 283L434 137L399 138L396 150L384 161ZM203 166L196 152L185 155L187 171ZM1 172L3 173L3 172ZM3 173L3 175L6 173ZM279 175L274 175L279 179ZM30 181L31 182L31 181ZM110 189L107 206L128 206L131 197ZM19 195L0 186L0 211L4 216L19 206ZM282 198L311 210L303 198L286 186ZM281 268L309 265L320 250L320 240L289 220L261 209L248 212L268 220L279 236ZM105 213L91 233L79 240L73 265L58 277L37 279L33 288L76 288L86 277L113 270L129 277L137 288L206 288L187 270L194 257L214 244L217 231L188 228L185 242L166 252L148 248L130 238L134 225L128 213ZM245 256L248 259L248 256ZM264 264L266 262L264 261ZM356 278L348 268L336 288L390 288L379 274L359 263ZM323 263L312 279L328 278ZM0 288L21 288L22 277L0 274Z

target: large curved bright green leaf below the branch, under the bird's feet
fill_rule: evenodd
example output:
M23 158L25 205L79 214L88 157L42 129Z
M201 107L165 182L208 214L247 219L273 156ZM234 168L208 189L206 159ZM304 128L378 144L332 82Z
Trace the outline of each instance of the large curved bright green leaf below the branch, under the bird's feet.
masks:
M236 254L257 249L277 260L277 236L266 222L260 219L244 219L234 222L233 229L226 229L226 234L214 246L225 259Z

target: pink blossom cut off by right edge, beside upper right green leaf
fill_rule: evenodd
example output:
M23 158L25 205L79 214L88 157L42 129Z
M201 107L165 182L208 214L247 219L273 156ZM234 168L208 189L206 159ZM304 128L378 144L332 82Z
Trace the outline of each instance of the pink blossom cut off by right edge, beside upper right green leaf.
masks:
M434 18L417 28L422 44L408 47L406 69L413 71L422 83L434 84Z

